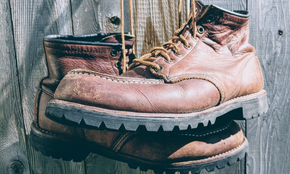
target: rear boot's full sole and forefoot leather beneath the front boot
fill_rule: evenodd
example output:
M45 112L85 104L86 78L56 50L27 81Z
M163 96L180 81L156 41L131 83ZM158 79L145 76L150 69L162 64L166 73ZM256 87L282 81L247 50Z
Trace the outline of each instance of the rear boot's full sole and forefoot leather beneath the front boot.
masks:
M34 148L44 155L82 161L96 153L155 173L214 171L245 156L248 141L235 122L214 124L190 131L123 132L84 129L84 137L61 136L32 126Z

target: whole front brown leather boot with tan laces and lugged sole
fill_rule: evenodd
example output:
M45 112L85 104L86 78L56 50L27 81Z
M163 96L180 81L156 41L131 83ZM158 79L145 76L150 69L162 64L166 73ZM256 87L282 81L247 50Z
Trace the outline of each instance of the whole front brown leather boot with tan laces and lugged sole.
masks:
M172 131L213 124L229 111L231 119L264 114L267 93L249 44L249 13L214 5L195 9L196 17L175 37L133 60L121 76L71 71L48 104L47 116L84 128L104 122L111 129L123 124L130 131L139 125Z

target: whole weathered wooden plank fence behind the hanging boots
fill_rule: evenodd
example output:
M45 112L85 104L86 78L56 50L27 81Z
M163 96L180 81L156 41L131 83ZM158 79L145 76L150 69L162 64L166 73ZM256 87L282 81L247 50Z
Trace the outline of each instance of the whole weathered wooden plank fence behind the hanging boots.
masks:
M289 0L204 0L204 3L251 13L251 44L256 47L262 65L269 101L266 115L239 122L250 143L247 157L212 173L289 173ZM135 48L140 56L167 41L177 29L177 0L133 0L133 7ZM42 37L119 32L120 26L108 22L114 16L120 16L119 0L0 0L1 174L140 173L126 163L95 154L84 162L52 159L33 150L28 141L38 80L46 75ZM128 14L125 17L128 19ZM129 31L128 25L125 29Z

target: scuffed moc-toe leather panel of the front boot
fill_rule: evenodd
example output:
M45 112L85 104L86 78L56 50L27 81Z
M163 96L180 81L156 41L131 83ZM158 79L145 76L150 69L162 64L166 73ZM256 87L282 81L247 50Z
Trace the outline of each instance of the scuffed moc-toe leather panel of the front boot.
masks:
M122 77L114 80L120 81ZM193 112L203 107L213 107L220 99L216 87L206 80L190 79L175 84L156 84L157 80L144 84L146 80L137 78L123 81L125 80L129 82L120 83L85 74L68 74L57 87L54 99L141 113ZM111 93L118 90L119 92ZM211 93L198 95L204 93L204 90ZM171 98L175 101L172 102Z

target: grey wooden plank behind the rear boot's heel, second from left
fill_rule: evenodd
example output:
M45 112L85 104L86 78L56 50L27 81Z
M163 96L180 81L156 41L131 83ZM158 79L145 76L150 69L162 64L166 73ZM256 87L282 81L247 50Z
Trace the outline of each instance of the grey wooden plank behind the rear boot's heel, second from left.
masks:
M14 39L26 139L33 120L33 101L38 81L46 76L42 38L49 34L72 34L70 1L11 0ZM85 173L84 162L46 157L27 142L31 173Z

